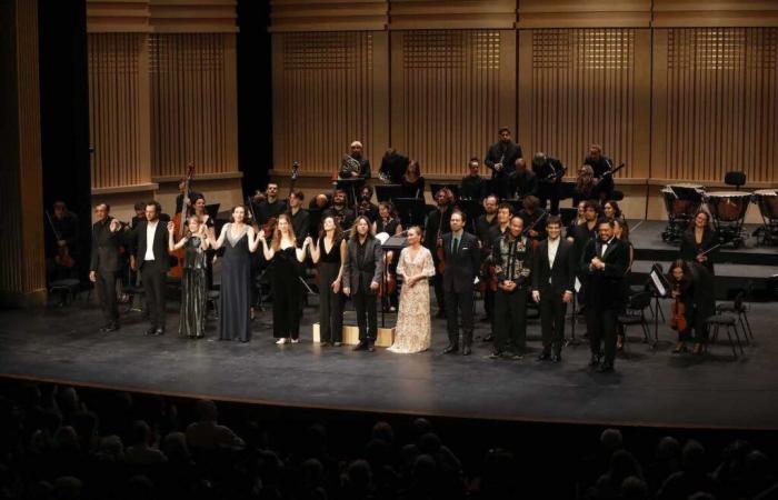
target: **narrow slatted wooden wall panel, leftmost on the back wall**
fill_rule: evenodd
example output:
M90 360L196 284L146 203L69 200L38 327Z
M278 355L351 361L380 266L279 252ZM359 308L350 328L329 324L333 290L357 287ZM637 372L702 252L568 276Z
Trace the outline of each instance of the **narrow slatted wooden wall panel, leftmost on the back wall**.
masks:
M92 188L149 181L146 43L144 33L89 34Z

